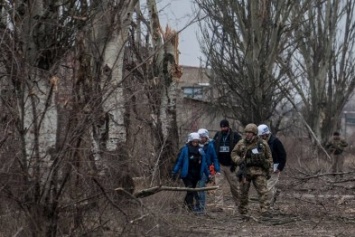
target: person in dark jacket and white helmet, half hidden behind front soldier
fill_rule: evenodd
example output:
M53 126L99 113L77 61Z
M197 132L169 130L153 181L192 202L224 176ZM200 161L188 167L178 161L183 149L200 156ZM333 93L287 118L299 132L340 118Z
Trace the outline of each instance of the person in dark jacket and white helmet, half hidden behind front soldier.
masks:
M271 133L267 125L260 124L258 126L258 135L267 141L272 154L273 173L271 178L268 180L267 187L269 190L269 198L271 200L270 207L274 207L276 199L281 192L281 190L277 188L277 183L281 172L285 168L287 155L282 142Z

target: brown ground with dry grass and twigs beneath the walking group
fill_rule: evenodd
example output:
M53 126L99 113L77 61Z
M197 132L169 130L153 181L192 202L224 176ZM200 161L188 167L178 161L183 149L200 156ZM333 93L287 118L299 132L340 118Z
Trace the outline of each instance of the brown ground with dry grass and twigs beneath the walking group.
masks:
M346 155L343 180L329 174L330 162L317 155L307 142L284 141L288 152L287 166L280 177L282 190L272 219L262 220L258 203L251 190L250 214L244 221L233 206L226 184L224 212L210 211L213 193L207 195L206 215L195 215L183 207L184 192L162 191L134 199L109 195L96 206L82 212L81 222L70 212L62 214L58 236L355 236L355 157ZM136 183L137 189L149 183ZM176 185L183 186L182 182ZM113 205L114 204L114 205ZM6 203L1 207L0 236L28 236L22 220L23 213L13 212ZM76 229L74 229L74 225Z

